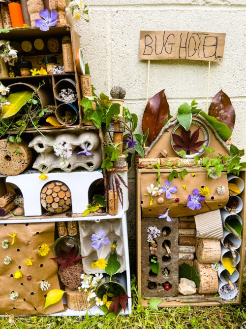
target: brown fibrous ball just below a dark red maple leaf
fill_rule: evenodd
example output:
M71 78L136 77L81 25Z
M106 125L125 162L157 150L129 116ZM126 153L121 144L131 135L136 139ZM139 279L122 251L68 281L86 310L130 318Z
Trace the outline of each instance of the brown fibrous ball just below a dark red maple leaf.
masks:
M74 265L59 268L58 274L62 283L71 289L78 289L81 286L81 274L84 273L83 265L75 263Z

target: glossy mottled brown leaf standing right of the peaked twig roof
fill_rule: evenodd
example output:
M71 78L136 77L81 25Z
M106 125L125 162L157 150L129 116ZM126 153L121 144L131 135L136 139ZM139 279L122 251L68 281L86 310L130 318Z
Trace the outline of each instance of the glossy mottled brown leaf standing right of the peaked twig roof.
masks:
M236 114L230 98L222 91L215 95L209 107L209 115L214 116L219 122L226 124L233 131Z

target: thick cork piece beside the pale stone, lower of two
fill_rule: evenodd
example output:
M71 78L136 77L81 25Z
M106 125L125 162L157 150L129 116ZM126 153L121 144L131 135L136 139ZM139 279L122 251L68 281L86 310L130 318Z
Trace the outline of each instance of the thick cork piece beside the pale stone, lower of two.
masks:
M199 293L215 293L218 291L218 275L211 263L200 263L194 260L194 268L200 277Z

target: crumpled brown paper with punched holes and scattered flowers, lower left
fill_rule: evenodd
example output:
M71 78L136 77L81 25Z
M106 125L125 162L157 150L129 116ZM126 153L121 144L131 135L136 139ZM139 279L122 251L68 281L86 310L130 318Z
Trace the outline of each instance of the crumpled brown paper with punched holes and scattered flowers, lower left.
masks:
M46 294L53 289L60 289L57 263L49 259L54 257L54 231L55 223L0 225L0 314L46 315L64 310L62 300L43 309ZM12 235L13 232L18 234L11 245L12 238L7 233ZM5 239L9 241L7 249L1 247ZM44 242L50 247L49 254L45 257L38 256L38 248ZM12 258L9 265L3 263L6 256ZM25 264L28 257L31 258L32 266ZM18 269L23 277L15 279L14 274ZM27 280L28 275L31 275L31 281ZM44 292L40 289L42 280L51 285ZM12 291L19 293L19 297L14 301L10 300Z

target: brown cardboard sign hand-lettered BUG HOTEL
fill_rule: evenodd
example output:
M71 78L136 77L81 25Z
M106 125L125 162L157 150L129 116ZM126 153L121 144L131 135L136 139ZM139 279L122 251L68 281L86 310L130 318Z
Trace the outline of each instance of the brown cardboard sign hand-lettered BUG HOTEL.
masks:
M222 62L225 33L141 31L139 59Z

